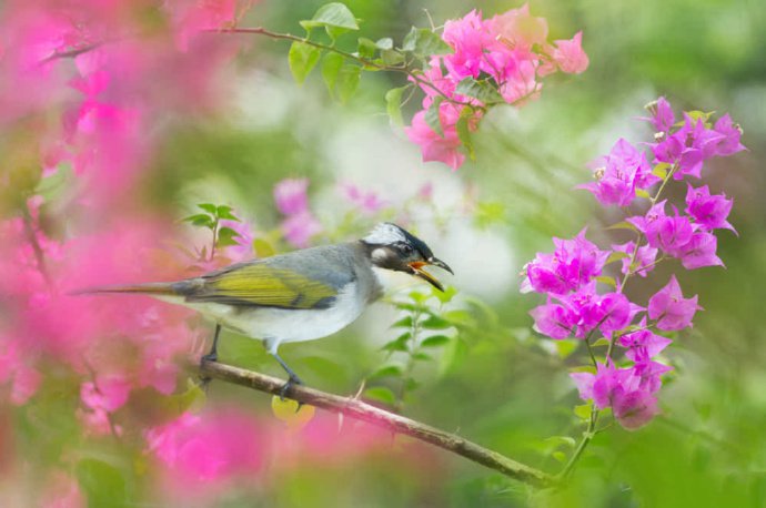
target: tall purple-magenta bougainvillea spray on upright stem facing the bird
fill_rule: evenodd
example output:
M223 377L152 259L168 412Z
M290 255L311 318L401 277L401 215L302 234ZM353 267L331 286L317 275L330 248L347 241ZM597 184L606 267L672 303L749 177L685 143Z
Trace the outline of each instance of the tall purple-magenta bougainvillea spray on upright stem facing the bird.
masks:
M643 214L626 212L623 226L634 231L635 240L601 250L586 240L585 230L572 240L554 238L555 251L537 254L526 265L522 283L522 291L547 298L531 312L537 332L586 343L594 365L593 372L572 374L579 396L592 399L596 409L611 407L628 429L641 427L658 413L661 376L671 369L655 360L671 343L661 334L691 327L702 307L696 295L684 296L675 275L646 306L628 298L625 284L634 275L646 277L657 263L668 258L678 260L686 270L723 265L716 255L715 231L734 232L727 221L732 200L725 194L710 194L707 185L687 182L683 212L667 200L659 201L661 194L673 180L699 179L707 159L744 150L742 132L728 115L710 124L707 114L685 113L683 121L676 122L664 98L648 109L652 116L645 120L658 131L655 141L646 143L648 155L621 139L596 161L595 182L579 185L604 205L647 203ZM609 276L607 265L617 261L618 276ZM601 291L598 283L608 291ZM593 353L598 336L607 345L601 358ZM616 346L624 352L624 359L617 358Z

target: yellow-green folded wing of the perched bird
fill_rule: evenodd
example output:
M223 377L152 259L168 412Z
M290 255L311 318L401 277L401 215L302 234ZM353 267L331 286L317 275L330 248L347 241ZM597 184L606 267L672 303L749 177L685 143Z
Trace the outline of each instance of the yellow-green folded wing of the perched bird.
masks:
M342 286L302 273L292 263L242 263L203 277L188 302L290 309L327 308Z

